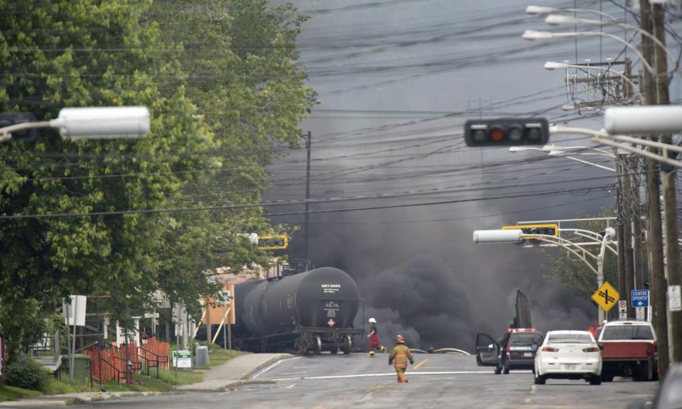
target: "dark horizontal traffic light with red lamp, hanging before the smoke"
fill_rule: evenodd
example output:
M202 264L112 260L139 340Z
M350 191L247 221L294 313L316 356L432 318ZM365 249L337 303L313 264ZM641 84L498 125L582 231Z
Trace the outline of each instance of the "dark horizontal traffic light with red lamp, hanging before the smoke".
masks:
M549 126L544 118L469 119L464 137L467 146L545 145Z

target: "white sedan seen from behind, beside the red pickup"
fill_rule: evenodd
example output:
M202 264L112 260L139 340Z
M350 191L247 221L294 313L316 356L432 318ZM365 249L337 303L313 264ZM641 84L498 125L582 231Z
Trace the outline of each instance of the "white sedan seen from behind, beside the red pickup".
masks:
M602 383L602 355L595 337L587 331L550 331L535 355L535 383L546 379L585 379Z

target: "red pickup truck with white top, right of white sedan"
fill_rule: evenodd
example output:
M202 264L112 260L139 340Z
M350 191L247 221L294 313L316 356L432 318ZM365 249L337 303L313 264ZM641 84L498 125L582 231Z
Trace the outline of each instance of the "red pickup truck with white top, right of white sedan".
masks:
M632 376L635 381L658 379L656 333L650 322L606 322L597 342L603 347L603 381L610 382L614 376Z

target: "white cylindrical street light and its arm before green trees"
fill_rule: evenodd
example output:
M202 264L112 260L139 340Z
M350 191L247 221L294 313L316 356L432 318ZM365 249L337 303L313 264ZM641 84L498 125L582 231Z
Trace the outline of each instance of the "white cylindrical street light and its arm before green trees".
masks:
M63 139L142 138L149 133L146 107L63 108L57 119L23 122L0 128L0 142L11 140L12 133L25 129L55 128Z

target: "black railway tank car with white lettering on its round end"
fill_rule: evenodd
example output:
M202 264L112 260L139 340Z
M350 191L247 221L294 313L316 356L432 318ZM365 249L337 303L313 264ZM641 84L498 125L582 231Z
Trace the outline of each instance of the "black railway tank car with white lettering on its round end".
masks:
M353 327L362 306L357 285L337 268L250 280L234 293L234 336L240 349L350 354L353 337L364 333Z

